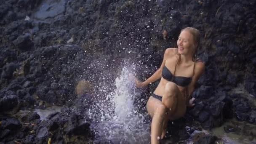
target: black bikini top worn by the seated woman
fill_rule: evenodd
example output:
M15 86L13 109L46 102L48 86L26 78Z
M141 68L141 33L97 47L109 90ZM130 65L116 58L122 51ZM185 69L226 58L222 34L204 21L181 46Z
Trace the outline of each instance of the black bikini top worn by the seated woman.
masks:
M167 67L163 67L162 71L162 77L165 80L172 81L173 83L176 83L179 86L186 87L191 82L191 77L176 77L173 76L171 71Z

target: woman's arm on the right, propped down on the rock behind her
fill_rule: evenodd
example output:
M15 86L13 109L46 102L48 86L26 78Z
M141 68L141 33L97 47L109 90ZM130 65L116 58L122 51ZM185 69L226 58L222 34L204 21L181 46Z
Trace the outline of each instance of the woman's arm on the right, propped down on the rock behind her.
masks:
M195 64L195 74L193 75L192 82L189 84L188 87L188 94L189 94L189 99L187 99L187 106L189 105L189 100L191 98L191 95L193 91L195 90L195 85L197 83L197 80L203 75L205 72L205 64L201 61L196 62Z

